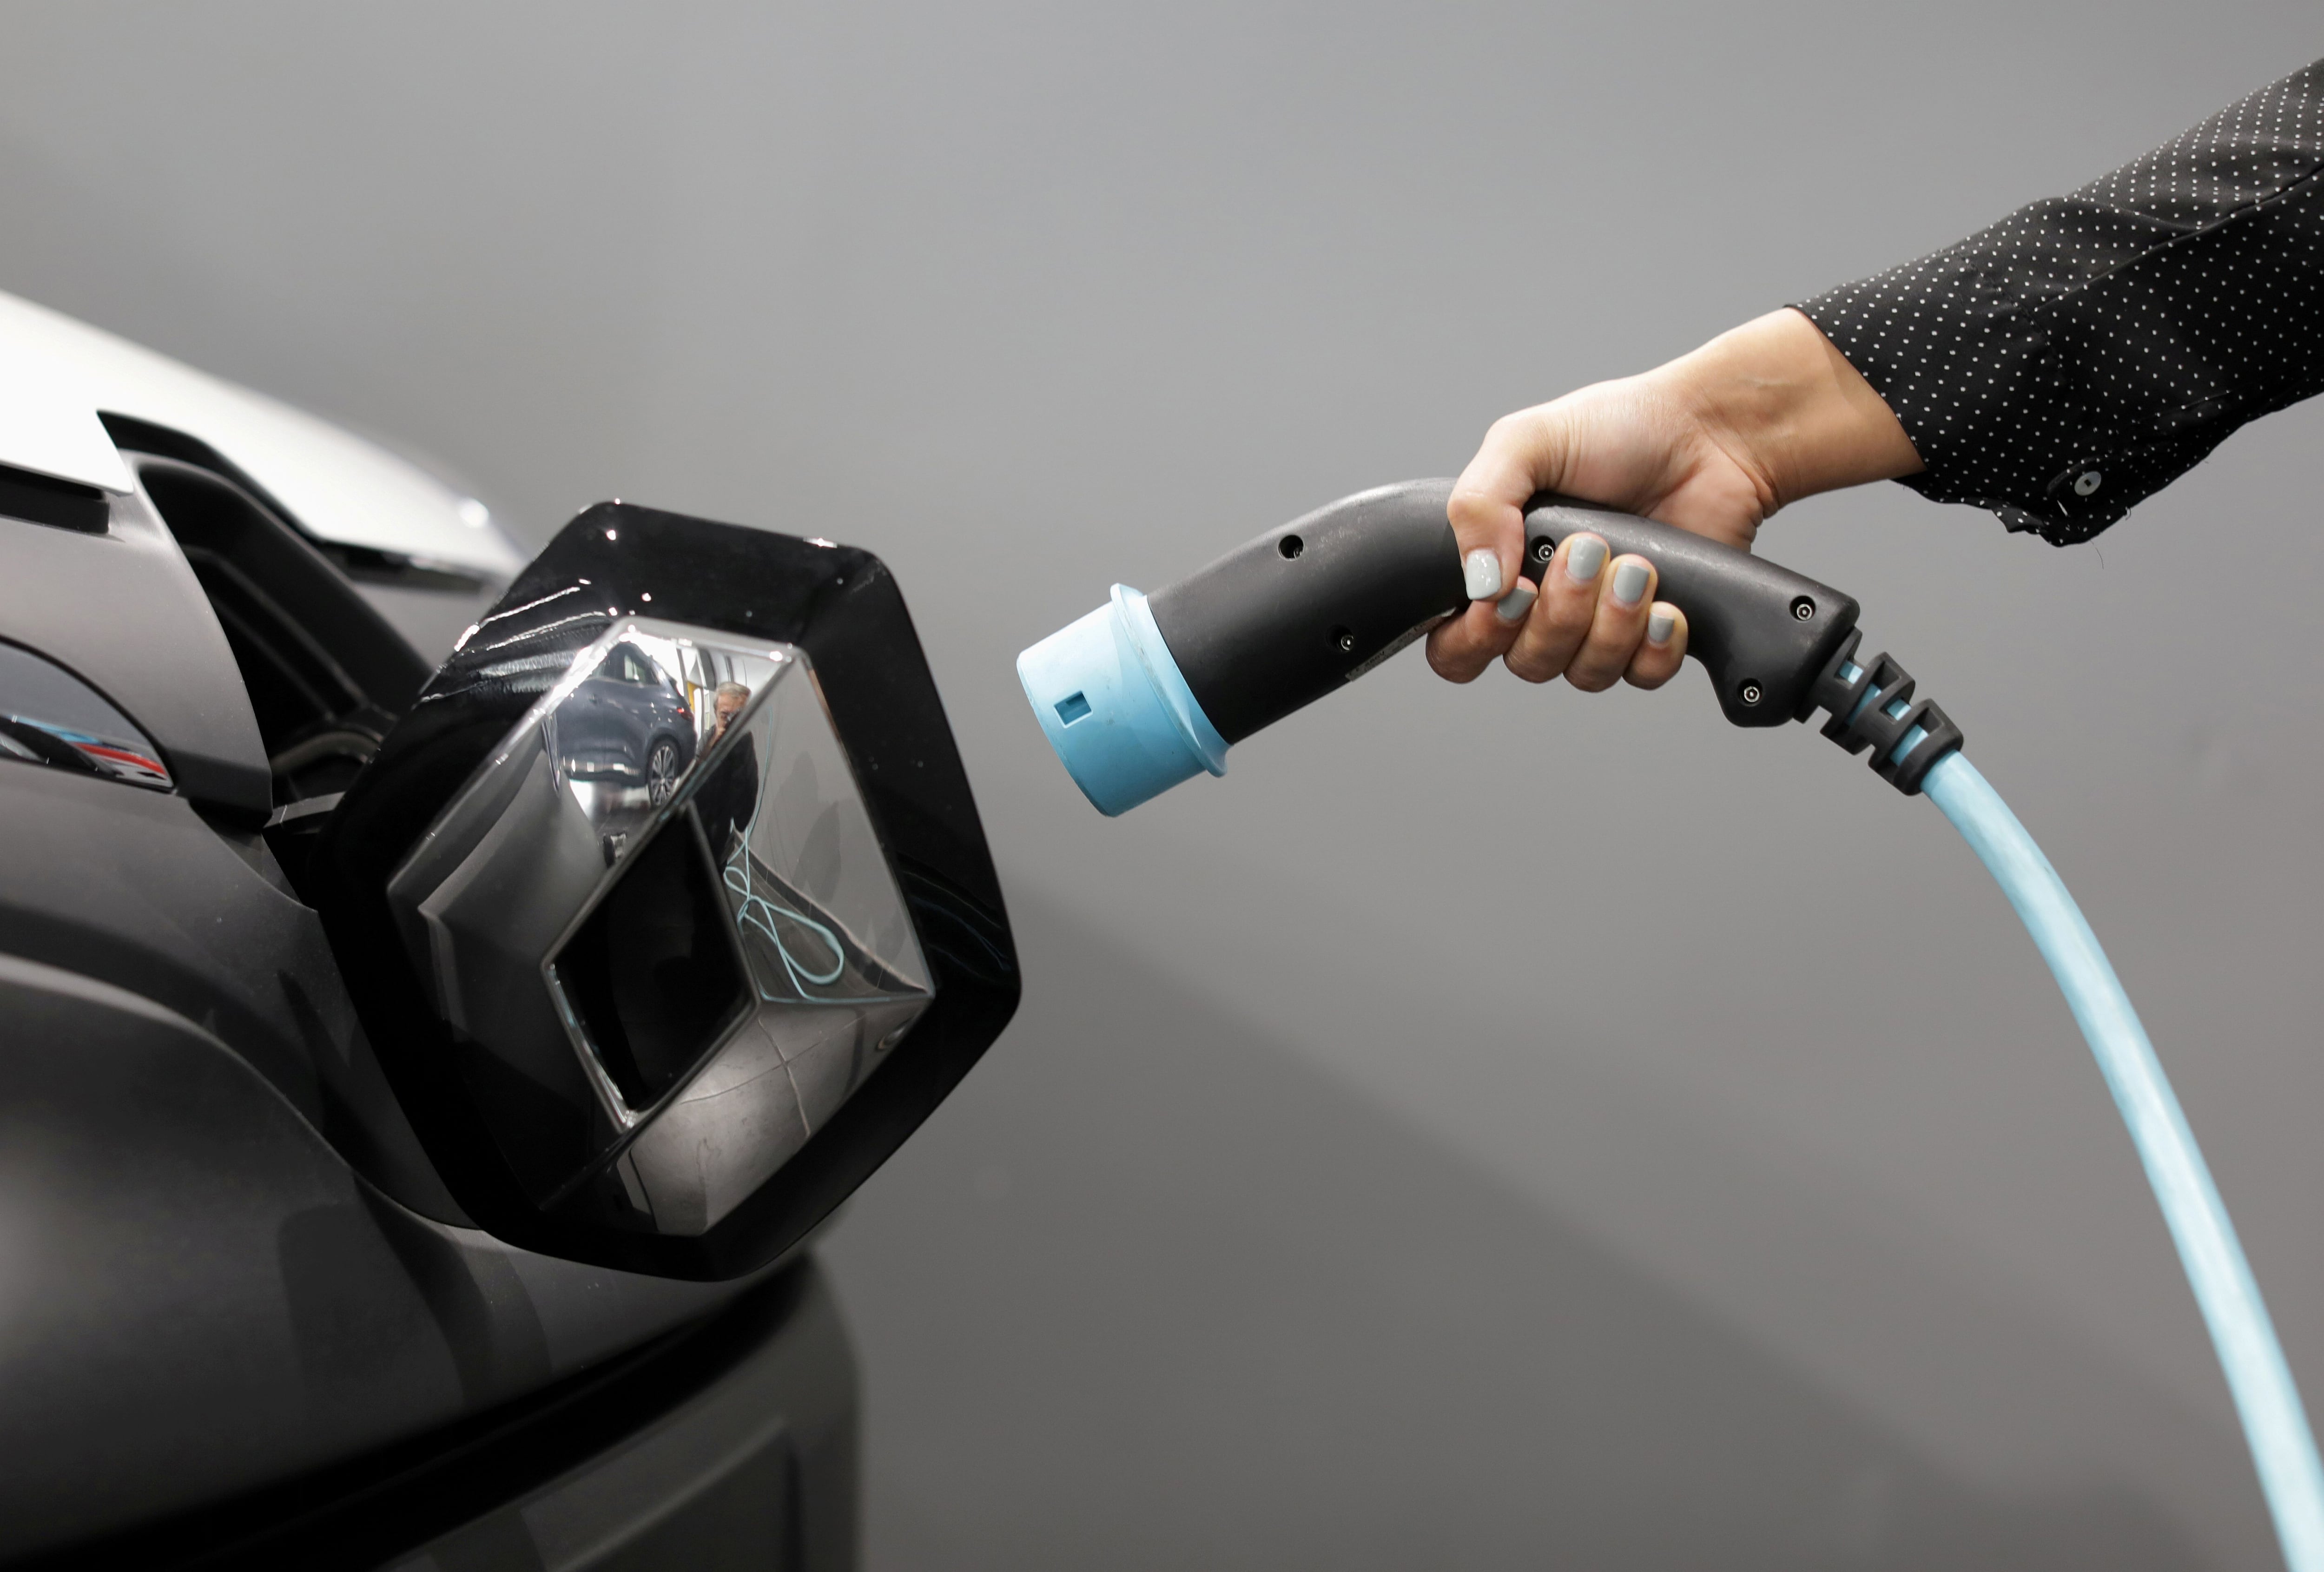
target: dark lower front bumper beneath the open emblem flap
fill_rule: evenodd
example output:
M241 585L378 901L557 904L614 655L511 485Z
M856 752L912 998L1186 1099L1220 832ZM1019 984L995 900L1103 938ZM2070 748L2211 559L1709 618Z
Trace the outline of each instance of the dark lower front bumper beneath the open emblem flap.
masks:
M7 1565L539 1567L569 1565L555 1542L581 1528L618 1544L616 1567L844 1572L855 1386L839 1307L809 1258L523 1398Z

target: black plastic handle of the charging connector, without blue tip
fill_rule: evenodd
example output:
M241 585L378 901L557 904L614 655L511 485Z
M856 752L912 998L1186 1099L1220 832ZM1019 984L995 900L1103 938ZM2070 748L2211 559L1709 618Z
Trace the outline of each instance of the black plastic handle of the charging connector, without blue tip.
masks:
M1236 546L1148 598L1195 702L1225 742L1362 677L1469 605L1446 505L1452 481L1364 491ZM1766 558L1566 498L1525 516L1525 577L1566 535L1655 563L1657 595L1687 614L1687 653L1736 726L1803 721L1857 602Z

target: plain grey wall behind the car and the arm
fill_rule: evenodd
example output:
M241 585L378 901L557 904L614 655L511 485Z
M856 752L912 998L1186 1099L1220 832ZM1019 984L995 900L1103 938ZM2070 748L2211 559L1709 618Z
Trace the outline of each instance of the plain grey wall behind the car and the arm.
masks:
M851 1205L871 1567L2266 1567L2171 1244L1952 830L1699 667L1404 658L1106 823L1011 660L2324 53L2308 0L12 5L0 288L902 577L1025 951ZM2324 407L1850 588L2110 946L2324 1400ZM93 614L100 614L93 609Z

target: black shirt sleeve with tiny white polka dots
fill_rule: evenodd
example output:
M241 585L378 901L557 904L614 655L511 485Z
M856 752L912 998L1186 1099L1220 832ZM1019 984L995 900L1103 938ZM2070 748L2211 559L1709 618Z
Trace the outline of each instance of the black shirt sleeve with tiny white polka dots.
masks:
M2324 60L1799 309L1903 421L1906 486L2068 546L2324 393L2319 170Z

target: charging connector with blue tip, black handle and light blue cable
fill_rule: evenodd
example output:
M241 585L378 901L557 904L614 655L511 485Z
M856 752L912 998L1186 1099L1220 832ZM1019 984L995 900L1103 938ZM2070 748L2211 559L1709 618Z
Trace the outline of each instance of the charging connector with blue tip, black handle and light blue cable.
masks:
M1229 551L1176 584L1113 598L1018 656L1041 730L1113 816L1373 670L1466 602L1446 521L1452 481L1367 491ZM1857 660L1857 602L1766 558L1666 523L1562 498L1525 516L1525 577L1576 530L1655 560L1736 726L1822 726L1961 833L2057 977L2178 1246L2291 1572L2324 1572L2324 1465L2236 1226L2154 1044L2050 858L1961 756L1961 730L1887 656Z

